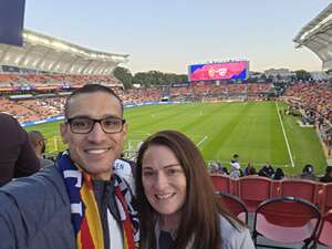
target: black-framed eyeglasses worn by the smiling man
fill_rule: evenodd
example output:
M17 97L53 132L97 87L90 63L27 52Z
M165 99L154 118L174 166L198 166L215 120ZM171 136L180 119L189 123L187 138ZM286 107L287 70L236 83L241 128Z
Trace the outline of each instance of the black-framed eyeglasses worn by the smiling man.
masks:
M101 120L94 120L90 117L71 117L66 121L71 127L72 133L75 134L91 133L95 123L98 123L102 126L104 133L120 133L123 129L123 125L126 123L125 120L114 116L104 117Z

